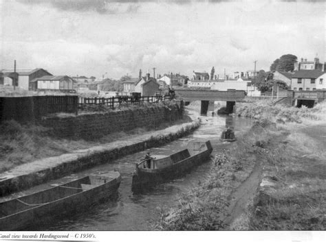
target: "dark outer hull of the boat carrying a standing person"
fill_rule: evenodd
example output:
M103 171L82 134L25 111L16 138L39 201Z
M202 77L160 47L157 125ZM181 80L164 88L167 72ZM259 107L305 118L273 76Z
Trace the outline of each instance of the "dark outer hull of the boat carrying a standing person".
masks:
M208 149L204 152L181 160L170 167L164 167L163 169L136 169L133 174L131 190L146 190L152 186L166 182L166 180L183 176L186 172L208 160L213 149L209 141L207 146Z

